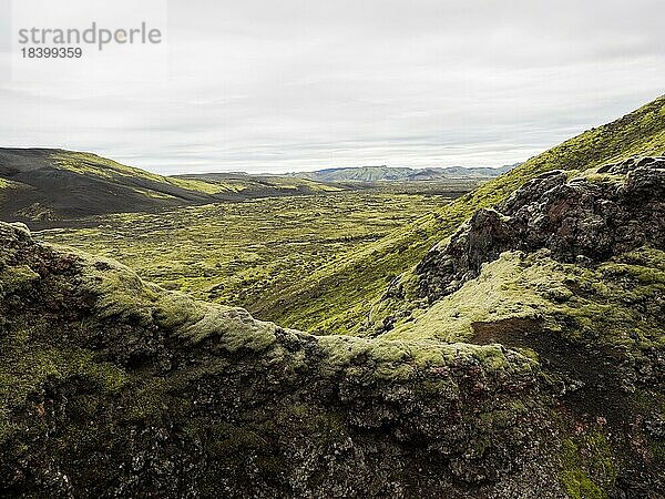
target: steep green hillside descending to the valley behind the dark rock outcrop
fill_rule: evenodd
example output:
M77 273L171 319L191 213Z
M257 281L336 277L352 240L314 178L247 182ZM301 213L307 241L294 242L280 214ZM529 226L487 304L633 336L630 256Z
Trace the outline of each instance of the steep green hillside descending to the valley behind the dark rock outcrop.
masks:
M289 327L356 334L387 285L450 236L475 210L498 203L550 170L584 170L631 155L663 152L665 96L530 159L439 212L355 252L342 263L319 268L289 289L268 297L255 313Z

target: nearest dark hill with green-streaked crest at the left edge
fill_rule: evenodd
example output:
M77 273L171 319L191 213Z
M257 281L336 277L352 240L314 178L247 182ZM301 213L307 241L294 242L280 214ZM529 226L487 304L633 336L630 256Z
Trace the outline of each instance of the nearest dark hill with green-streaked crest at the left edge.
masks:
M93 154L0 149L0 216L53 221L212 202L205 185L178 185Z

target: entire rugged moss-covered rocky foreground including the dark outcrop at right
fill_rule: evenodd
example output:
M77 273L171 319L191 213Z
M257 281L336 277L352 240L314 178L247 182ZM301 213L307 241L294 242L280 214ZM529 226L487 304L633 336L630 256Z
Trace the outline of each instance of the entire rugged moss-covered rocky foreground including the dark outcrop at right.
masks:
M393 283L375 338L0 224L0 496L663 497L664 165L479 212ZM511 307L463 323L470 289Z

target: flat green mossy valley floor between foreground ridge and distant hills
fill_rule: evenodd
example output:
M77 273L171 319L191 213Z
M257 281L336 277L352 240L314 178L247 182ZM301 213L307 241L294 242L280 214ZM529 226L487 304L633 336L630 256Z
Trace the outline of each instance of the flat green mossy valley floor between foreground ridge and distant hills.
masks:
M86 221L94 228L39 237L113 257L170 289L269 319L276 315L265 307L269 297L342 265L349 254L449 201L380 192L274 197L110 215Z

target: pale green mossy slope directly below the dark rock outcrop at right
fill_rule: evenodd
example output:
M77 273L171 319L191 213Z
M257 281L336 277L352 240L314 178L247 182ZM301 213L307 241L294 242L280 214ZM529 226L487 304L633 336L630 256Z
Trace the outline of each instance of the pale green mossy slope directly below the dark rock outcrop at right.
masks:
M664 258L662 251L643 247L581 267L552 259L546 249L507 252L484 264L478 278L431 306L407 296L412 309L382 336L469 342L478 323L526 319L542 320L543 327L565 332L571 340L606 338L615 346L662 347ZM381 310L377 315L382 317Z

